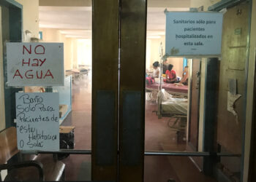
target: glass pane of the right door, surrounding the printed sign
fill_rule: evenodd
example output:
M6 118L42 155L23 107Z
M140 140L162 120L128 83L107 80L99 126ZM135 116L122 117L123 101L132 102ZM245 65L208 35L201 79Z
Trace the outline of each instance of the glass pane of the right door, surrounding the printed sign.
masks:
M209 9L219 11L223 8L223 4L220 4L222 3L214 4ZM176 11L172 7L166 8L165 12L168 12L168 9ZM148 78L144 165L146 181L156 181L157 178L162 181L167 178L170 178L170 181L222 181L224 178L242 181L245 132L243 126L246 119L245 109L241 108L245 106L243 103L246 98L243 96L240 98L238 95L244 95L246 92L244 82L241 80L244 80L244 76L248 74L245 67L248 50L242 44L249 45L246 41L246 37L249 36L249 21L240 23L240 28L234 28L238 25L233 21L239 23L239 20L249 20L251 16L249 9L248 2L233 4L227 8L223 17L221 59L190 57L192 59L187 63L189 67L187 94L184 95L182 92L182 88L186 88L184 84L178 82L172 85L164 82L161 87L161 79L154 79L155 83L152 84L149 82L151 78ZM157 66L154 66L154 63L159 62L161 68L167 62L173 65L177 77L183 77L182 59L155 56L161 55L159 50L165 47L165 35L161 36L158 33L157 36L152 36L153 33L157 33L152 31L154 18L158 15L157 11L159 10L156 8L148 7L148 29L150 28L151 31L147 30L147 46L158 49L152 50L147 47L147 74L151 76L156 72L157 68L154 67ZM202 10L197 9L197 11ZM178 20L181 19L177 18ZM161 19L157 22L158 28L165 32L165 28L162 28L164 26L161 26L163 24ZM241 30L244 30L244 33L241 33ZM162 77L167 79L165 76ZM231 82L236 85L236 93L233 97L238 99L233 103L233 108L228 108L228 100L230 100L228 92L231 92L233 85ZM180 101L178 106L180 109L173 114L170 107L175 108L177 100ZM185 114L181 112L184 102L187 102ZM156 112L157 115L154 115Z

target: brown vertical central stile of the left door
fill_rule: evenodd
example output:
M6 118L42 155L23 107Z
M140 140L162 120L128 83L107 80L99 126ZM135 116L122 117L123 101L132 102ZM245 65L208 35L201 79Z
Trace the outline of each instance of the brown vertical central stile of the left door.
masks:
M92 2L91 179L118 181L120 4Z

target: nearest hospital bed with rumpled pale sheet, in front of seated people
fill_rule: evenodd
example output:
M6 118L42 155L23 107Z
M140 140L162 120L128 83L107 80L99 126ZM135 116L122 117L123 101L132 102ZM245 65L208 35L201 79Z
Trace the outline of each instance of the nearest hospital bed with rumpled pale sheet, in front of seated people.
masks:
M167 116L168 126L171 130L176 131L177 140L181 132L186 133L187 128L187 98L173 98L164 89L160 90L157 95L157 116Z

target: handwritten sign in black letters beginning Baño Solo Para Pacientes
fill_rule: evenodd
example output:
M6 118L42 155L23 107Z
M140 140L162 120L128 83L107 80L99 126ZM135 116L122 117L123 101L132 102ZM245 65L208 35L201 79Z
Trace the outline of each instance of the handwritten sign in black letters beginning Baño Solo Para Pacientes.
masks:
M59 93L16 93L18 149L59 150Z

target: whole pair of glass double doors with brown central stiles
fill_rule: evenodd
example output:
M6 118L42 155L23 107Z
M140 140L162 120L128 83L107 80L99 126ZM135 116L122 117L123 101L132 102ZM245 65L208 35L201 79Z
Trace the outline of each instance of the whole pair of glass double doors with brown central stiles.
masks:
M0 4L0 48L5 51L5 42L24 41L24 36L29 36L29 30L22 29L26 17L22 15L20 4L10 1L1 1ZM63 139L63 148L59 151L31 153L50 154L50 157L65 164L67 181L153 182L157 178L162 181L214 181L214 174L225 172L232 173L232 179L242 178L245 98L236 103L236 114L239 116L236 118L232 111L226 109L226 91L230 89L230 79L236 79L236 93L244 95L245 85L241 80L247 74L245 45L248 44L249 25L244 20L249 17L248 3L227 9L223 24L222 60L189 59L187 71L183 66L184 58L162 57L165 26L159 27L160 32L154 26L151 26L152 30L148 26L147 30L147 17L150 21L154 15L163 13L164 7L151 7L153 5L145 0L94 0L89 7L51 5L47 7L42 3L37 7L46 18L41 18L41 25L50 13L53 20L56 14L67 18L69 16L65 13L72 16L73 12L86 12L86 15L91 15L92 26L87 31L81 31L79 25L75 30L66 30L67 25L65 30L56 30L54 26L61 20L56 18L50 30L46 25L40 28L41 41L66 42L66 85L44 89L45 92L59 92L60 100L64 102L60 105L71 106L67 107L70 112L63 115L60 125L75 128L65 135L68 139ZM26 7L26 4L23 6ZM162 19L154 21L160 23ZM240 24L241 28L237 28ZM233 31L230 33L230 28L235 30L235 34ZM78 33L84 33L83 37ZM85 38L86 33L91 33L91 37ZM159 34L156 36L154 33ZM77 39L71 39L74 36L78 36ZM87 49L86 54L91 49L91 58L81 54L83 49ZM7 86L4 51L0 52L3 57L0 77L4 78L0 80L0 98L1 102L4 98L5 104L4 110L1 108L5 119L1 119L6 122L1 123L1 129L15 126L15 92L26 92L24 87ZM166 63L176 68L181 79L187 74L188 85L165 85L166 90L162 92L161 86L153 84L152 79L146 79L146 74L156 72L154 67L158 66L154 63L157 57L161 72L159 79L154 79L155 83L162 83L164 75L167 78L166 68L162 72ZM241 63L238 58L244 62ZM91 68L85 68L87 59L91 59ZM90 69L91 72L82 73ZM81 95L80 92L89 92L89 95ZM167 113L162 113L162 103L168 98L187 102L182 107L183 114L167 116ZM86 107L91 110L85 111ZM72 140L75 137L75 146L67 142L69 137ZM238 142L232 142L233 138Z

